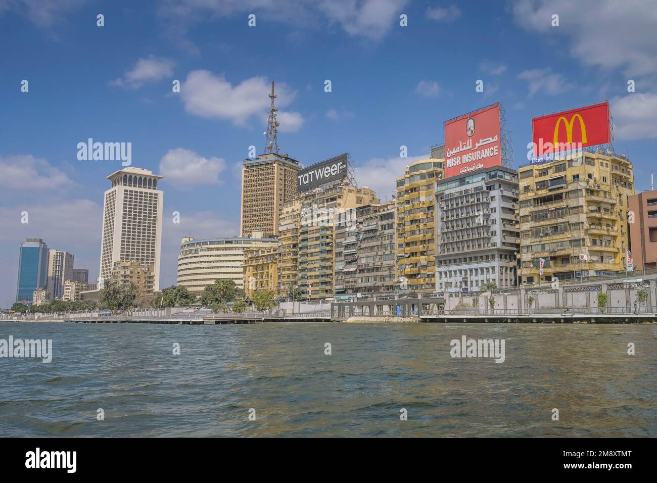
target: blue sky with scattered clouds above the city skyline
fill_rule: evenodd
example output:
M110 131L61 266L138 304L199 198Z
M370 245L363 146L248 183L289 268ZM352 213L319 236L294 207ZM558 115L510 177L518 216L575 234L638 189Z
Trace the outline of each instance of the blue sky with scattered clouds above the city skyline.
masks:
M14 302L28 237L98 276L106 176L122 166L78 160L89 138L131 143L131 166L164 176L160 287L175 284L181 237L238 235L242 160L252 145L263 151L271 80L281 152L304 166L348 152L357 183L382 200L409 162L443 143L443 122L497 102L517 168L532 116L610 101L615 150L633 162L637 192L650 189L656 7L0 0L0 306Z

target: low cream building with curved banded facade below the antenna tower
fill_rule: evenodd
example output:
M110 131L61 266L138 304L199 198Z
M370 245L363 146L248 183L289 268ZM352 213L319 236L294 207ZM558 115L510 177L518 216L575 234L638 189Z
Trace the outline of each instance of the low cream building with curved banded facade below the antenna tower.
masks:
M244 250L278 246L277 239L261 238L258 232L252 235L252 238L207 240L183 238L178 256L178 285L197 295L217 279L229 279L244 288Z

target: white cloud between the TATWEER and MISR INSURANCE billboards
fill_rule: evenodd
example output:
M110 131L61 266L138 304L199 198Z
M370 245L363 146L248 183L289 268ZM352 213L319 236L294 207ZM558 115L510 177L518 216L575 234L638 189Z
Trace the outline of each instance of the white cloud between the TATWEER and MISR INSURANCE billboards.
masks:
M354 175L359 185L365 185L376 191L376 195L384 201L386 196L390 200L390 196L397 192L397 177L404 175L404 169L412 162L422 159L428 159L429 155L425 156L409 156L408 158L373 158L363 166L355 166L353 168Z

